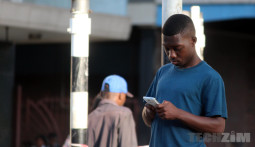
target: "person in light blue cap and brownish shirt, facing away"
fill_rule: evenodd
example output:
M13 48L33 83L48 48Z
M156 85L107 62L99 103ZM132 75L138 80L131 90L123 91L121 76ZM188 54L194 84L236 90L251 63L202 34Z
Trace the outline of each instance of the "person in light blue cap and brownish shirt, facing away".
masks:
M104 79L102 100L88 117L89 147L137 147L132 112L123 106L126 96L133 97L123 77L110 75Z

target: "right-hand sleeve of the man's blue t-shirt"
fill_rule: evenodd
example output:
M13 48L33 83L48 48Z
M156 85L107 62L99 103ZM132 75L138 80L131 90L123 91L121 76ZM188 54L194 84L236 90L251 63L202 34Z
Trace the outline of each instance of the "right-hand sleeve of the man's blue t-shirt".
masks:
M225 87L221 77L213 77L204 83L202 104L205 116L228 117Z

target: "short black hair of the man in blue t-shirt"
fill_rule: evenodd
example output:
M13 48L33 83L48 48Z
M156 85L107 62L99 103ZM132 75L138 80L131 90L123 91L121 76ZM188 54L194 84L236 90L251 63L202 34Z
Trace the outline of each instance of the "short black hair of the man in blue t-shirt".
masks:
M195 32L193 21L189 16L184 14L174 14L166 20L162 32L165 36L173 36L183 33L188 27L190 27L190 31Z

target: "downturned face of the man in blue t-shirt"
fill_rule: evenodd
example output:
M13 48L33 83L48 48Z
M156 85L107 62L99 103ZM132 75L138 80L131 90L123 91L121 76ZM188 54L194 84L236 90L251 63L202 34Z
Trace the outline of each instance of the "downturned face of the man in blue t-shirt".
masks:
M192 61L196 55L196 38L190 35L176 34L173 36L163 35L163 46L168 59L180 68L192 66Z

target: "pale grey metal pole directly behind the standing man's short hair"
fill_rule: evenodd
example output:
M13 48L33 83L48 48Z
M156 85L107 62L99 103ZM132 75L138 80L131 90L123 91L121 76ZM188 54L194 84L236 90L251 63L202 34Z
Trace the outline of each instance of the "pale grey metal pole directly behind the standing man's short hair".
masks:
M179 13L182 13L182 0L162 0L162 28L168 17ZM163 42L163 37L161 37L161 42ZM167 61L164 47L161 46L161 65L164 65Z

